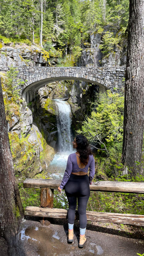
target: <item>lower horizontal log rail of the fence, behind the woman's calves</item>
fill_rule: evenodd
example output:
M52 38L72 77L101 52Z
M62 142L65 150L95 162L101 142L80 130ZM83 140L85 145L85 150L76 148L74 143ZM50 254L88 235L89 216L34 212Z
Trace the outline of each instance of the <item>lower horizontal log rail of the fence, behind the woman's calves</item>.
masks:
M35 206L27 206L25 208L25 215L66 219L67 210L57 209L57 208L51 209L51 208L39 208ZM87 216L87 220L91 220L91 221L144 226L144 215L86 211L86 216ZM79 219L77 211L76 211L75 219L76 220Z

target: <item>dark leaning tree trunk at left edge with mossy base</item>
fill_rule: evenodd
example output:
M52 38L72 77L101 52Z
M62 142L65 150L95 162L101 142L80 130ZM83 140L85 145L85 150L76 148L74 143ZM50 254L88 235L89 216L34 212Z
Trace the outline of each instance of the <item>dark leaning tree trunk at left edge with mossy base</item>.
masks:
M18 220L24 215L20 193L14 175L0 82L0 235L9 248L9 255L19 255L16 246Z

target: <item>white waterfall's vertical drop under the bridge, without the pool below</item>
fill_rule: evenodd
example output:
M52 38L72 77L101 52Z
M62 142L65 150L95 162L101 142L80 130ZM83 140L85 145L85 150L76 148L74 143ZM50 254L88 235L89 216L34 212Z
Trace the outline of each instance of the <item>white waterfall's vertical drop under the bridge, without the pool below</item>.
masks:
M71 110L67 101L55 100L57 112L57 130L59 151L72 151Z

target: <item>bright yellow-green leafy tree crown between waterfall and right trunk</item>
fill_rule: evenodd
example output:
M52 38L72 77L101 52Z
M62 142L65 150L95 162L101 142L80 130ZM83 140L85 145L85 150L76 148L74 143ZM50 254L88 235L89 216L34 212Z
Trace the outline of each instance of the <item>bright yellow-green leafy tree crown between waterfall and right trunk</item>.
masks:
M101 146L100 140L105 140L109 148L123 138L124 96L110 91L99 96L92 106L95 111L83 122L82 130L77 132L84 133L91 142Z

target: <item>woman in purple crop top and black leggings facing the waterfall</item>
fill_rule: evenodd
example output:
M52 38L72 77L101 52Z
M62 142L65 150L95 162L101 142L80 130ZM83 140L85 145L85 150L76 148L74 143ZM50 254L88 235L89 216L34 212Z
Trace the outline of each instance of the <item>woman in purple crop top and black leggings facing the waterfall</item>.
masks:
M80 225L80 241L79 247L84 247L86 242L86 205L90 196L90 184L94 177L95 167L92 151L89 147L88 140L83 135L77 135L73 141L73 148L76 153L68 156L67 167L63 176L63 180L58 191L65 187L66 196L68 198L68 242L73 242L73 226L76 211L76 199L78 200L78 213ZM90 169L89 177L87 175Z

